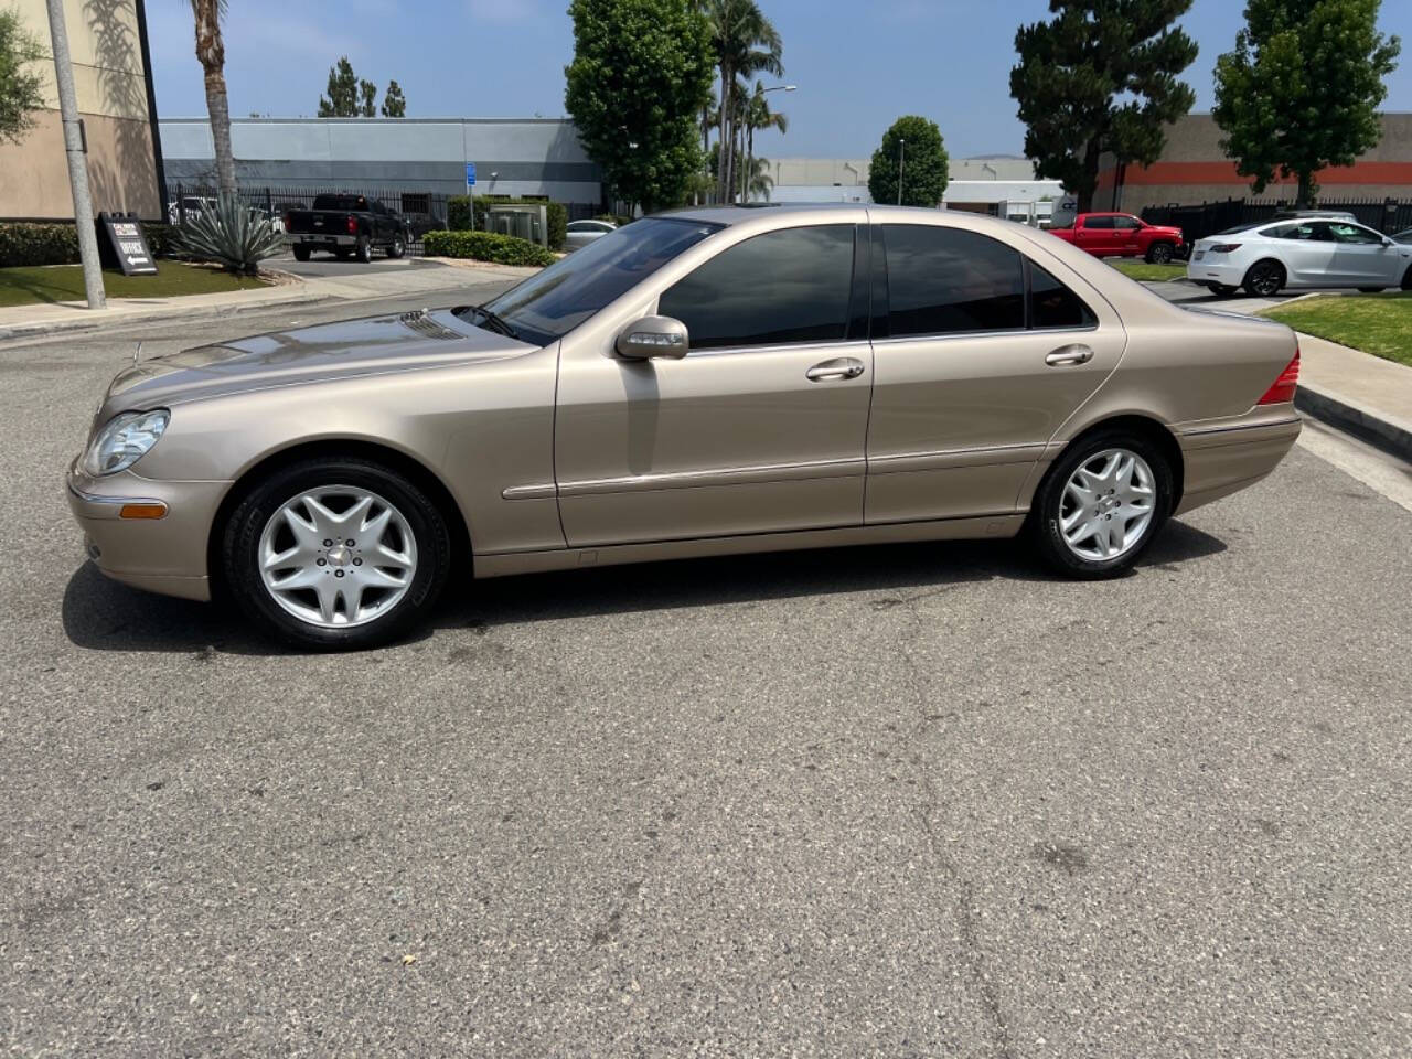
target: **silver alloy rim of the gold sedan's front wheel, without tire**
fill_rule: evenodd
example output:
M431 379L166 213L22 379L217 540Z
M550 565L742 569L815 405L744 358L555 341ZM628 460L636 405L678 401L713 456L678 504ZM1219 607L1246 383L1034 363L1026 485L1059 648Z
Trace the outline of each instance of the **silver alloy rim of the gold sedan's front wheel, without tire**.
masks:
M285 501L260 534L260 578L280 607L319 628L393 610L417 573L417 538L385 498L321 486Z

